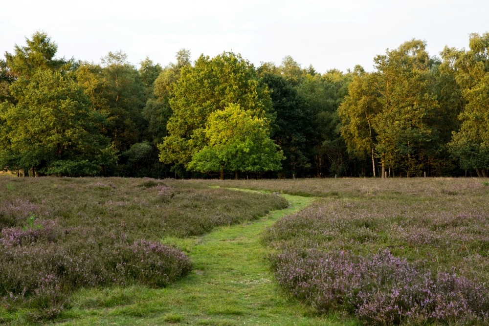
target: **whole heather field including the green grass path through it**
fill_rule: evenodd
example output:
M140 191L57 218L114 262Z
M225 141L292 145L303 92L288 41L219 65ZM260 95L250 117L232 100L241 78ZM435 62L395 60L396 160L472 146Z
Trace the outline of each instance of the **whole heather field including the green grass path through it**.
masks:
M0 189L0 323L488 324L485 179Z

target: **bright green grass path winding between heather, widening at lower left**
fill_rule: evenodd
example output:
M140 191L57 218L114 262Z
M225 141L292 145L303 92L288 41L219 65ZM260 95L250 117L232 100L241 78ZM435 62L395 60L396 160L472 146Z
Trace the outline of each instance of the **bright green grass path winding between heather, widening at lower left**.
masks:
M288 208L257 221L217 228L195 239L170 239L194 261L192 273L164 289L92 289L73 298L65 325L331 325L277 291L263 230L313 198L283 195ZM63 324L63 323L61 323ZM57 324L60 325L60 324Z

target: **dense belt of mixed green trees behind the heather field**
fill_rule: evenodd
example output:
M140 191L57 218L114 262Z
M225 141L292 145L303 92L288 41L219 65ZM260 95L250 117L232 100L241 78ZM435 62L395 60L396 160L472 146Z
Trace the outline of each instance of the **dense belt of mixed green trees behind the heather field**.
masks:
M488 176L489 33L430 56L410 40L373 71L188 49L139 67L60 58L42 31L0 59L0 170L18 176Z

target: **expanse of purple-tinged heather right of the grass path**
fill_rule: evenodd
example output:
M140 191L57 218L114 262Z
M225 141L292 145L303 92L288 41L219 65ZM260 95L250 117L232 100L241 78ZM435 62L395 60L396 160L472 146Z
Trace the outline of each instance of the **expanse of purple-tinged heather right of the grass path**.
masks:
M315 184L304 191L320 191ZM482 180L324 180L322 194L332 185L337 196L264 234L288 296L365 325L489 323L489 188ZM282 186L271 190L289 190Z

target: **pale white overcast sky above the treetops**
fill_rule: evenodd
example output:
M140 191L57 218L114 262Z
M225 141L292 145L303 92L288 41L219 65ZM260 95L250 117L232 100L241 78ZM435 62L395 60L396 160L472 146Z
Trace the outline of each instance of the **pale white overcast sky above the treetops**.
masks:
M321 73L372 71L376 55L411 39L433 56L489 32L487 0L16 0L0 8L2 53L40 30L58 57L100 63L122 50L136 67L147 56L168 65L186 48L192 60L233 51L257 67L291 56Z

